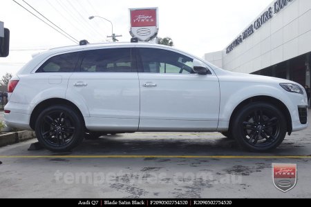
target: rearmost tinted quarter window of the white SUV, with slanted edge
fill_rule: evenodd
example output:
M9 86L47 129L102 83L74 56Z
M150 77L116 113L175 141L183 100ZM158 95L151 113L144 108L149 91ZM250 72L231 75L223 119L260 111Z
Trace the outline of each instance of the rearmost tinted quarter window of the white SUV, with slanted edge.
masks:
M73 72L79 52L56 55L48 59L36 72Z

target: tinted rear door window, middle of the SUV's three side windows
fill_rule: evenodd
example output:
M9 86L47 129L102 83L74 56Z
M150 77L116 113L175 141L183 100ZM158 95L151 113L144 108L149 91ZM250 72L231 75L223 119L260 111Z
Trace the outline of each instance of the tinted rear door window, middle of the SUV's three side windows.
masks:
M89 50L84 52L81 72L132 72L131 48Z

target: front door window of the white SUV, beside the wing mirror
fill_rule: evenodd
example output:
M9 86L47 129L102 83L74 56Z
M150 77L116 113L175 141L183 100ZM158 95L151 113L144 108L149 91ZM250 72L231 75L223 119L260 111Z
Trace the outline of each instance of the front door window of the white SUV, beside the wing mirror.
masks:
M139 52L144 72L194 73L194 59L178 52L156 48L139 48Z

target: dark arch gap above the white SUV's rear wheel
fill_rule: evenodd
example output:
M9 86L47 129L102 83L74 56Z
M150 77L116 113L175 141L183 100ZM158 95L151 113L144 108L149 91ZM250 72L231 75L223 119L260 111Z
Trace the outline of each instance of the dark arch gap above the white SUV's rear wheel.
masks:
M84 121L84 117L82 115L81 110L79 110L79 108L75 105L75 103L68 101L66 99L61 99L61 98L51 98L51 99L46 99L44 101L41 101L39 104L37 104L37 106L32 110L32 113L30 115L30 128L32 128L32 130L35 130L35 122L37 117L39 116L39 112L41 110L43 110L44 108L47 108L48 106L53 106L53 105L57 105L57 104L62 104L62 105L66 105L66 106L70 106L71 108L73 108L74 110L76 110L79 114L79 116L82 117L82 120ZM84 121L84 126L85 126L85 121Z

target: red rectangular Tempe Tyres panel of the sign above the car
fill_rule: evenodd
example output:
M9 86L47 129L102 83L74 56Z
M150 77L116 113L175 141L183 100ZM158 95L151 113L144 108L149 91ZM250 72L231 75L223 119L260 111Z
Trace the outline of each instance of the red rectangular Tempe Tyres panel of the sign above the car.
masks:
M132 27L147 27L156 25L156 10L131 10Z

